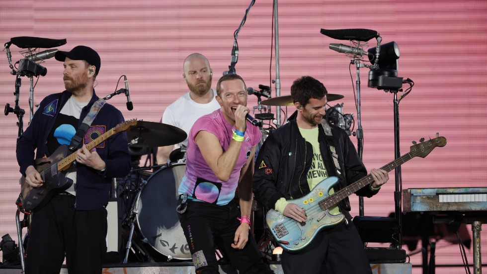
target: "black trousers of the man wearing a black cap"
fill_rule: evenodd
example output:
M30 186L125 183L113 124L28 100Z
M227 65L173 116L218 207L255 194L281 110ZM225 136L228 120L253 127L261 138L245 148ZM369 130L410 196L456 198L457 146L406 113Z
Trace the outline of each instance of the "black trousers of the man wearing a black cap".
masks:
M59 274L65 256L70 274L102 273L107 211L74 204L74 196L59 194L33 213L25 273Z

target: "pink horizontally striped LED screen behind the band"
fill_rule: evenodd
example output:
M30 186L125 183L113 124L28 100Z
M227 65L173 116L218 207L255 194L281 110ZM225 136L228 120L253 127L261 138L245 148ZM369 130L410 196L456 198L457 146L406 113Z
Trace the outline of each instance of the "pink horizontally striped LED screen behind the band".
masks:
M102 60L95 87L97 94L105 96L115 91L118 78L125 74L134 109L126 109L123 95L109 102L121 109L126 119L159 121L165 107L187 91L181 74L182 62L188 54L199 52L208 57L213 68L213 87L216 86L219 76L228 70L233 32L249 3L242 0L1 1L0 43L3 45L11 37L35 36L66 38L68 43L59 47L60 50L90 46ZM343 94L345 98L331 104L343 102L344 112L353 113L356 118L355 67L351 67L352 81L350 60L328 49L329 43L347 44L347 41L326 37L320 29L377 30L384 43L399 44L399 76L415 82L399 106L402 154L409 151L412 140L434 137L436 132L448 140L446 147L403 166L403 188L486 185L486 1L281 0L278 10L281 95L290 94L293 80L310 75L321 80L330 93ZM272 1L257 1L239 34L236 70L247 87L269 85L269 79L275 79L272 22ZM369 46L375 43L370 40ZM22 58L19 48L12 45L10 49L13 62ZM36 104L47 94L64 90L62 63L52 58L43 66L48 73L35 86ZM2 107L5 103L14 104L15 77L9 72L6 55L0 52ZM393 94L367 88L368 69L360 69L360 74L363 159L371 169L394 159ZM275 96L274 86L272 89ZM29 120L28 95L29 81L22 78L20 107L26 111L24 128ZM252 95L249 106L254 105L256 97ZM288 108L288 114L293 111L293 107ZM9 233L16 240L14 201L19 192L19 173L15 159L15 122L15 115L1 115L0 235ZM356 142L353 136L352 140ZM387 216L394 212L394 173L390 177L378 195L365 199L365 215ZM352 215L358 215L356 196L352 200ZM483 236L485 264L487 236ZM472 249L467 250L469 263L473 261L472 254ZM410 261L419 265L421 255L412 255ZM458 245L440 240L436 263L461 264ZM463 270L437 269L439 273ZM421 269L414 268L413 273L421 273Z

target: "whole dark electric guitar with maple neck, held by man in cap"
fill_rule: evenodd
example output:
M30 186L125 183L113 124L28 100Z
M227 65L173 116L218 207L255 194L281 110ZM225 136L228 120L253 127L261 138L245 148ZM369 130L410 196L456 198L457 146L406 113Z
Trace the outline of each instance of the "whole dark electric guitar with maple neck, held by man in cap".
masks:
M86 148L91 150L101 144L113 134L127 130L130 126L136 125L137 119L132 119L118 124L98 138L86 144ZM20 178L20 202L25 210L33 211L46 204L54 194L68 189L73 180L66 177L75 168L72 163L76 160L76 152L68 153L70 150L67 145L62 145L47 158L40 158L35 161L35 168L41 174L44 183L38 187L32 187L25 182L25 177Z

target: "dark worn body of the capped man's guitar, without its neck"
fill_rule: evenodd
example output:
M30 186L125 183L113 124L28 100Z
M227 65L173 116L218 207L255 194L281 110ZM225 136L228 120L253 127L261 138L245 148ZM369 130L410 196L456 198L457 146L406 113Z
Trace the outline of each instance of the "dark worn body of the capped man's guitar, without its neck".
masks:
M25 182L25 177L20 178L20 201L22 206L29 211L35 211L46 204L52 196L68 189L73 181L66 178L68 172L73 172L71 166L68 170L58 171L57 163L68 155L68 146L62 145L47 158L35 161L36 170L41 174L43 185L32 187Z

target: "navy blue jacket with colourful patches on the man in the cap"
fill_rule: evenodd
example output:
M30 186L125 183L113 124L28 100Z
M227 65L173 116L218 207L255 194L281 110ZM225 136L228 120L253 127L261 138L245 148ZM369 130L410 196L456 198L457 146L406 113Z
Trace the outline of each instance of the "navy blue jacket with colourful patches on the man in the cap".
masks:
M17 162L20 166L20 173L23 176L25 176L27 167L34 165L34 151L36 149L35 159L49 156L47 137L54 126L59 112L70 97L71 93L69 91L63 91L48 95L39 104L30 125L20 136L17 143ZM93 91L91 100L81 110L78 126L81 125L96 100L98 100L98 96ZM102 134L123 121L122 113L114 106L106 103L91 123L90 129ZM84 136L84 143L89 143L89 139L93 140L98 137L87 135L90 129L87 130ZM88 141L85 141L86 139ZM130 155L127 143L127 134L122 132L112 135L96 146L96 152L106 163L103 174L77 163L76 209L93 210L108 204L111 178L124 177L130 172ZM82 144L80 144L79 148L81 146Z

